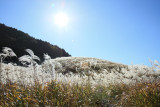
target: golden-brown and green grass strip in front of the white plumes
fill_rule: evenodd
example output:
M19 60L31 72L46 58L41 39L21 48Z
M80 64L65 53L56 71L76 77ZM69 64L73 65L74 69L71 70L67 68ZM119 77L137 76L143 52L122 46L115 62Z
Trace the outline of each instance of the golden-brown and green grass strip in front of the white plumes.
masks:
M51 81L42 86L24 86L8 82L0 89L2 107L159 107L160 82L134 85L64 84Z

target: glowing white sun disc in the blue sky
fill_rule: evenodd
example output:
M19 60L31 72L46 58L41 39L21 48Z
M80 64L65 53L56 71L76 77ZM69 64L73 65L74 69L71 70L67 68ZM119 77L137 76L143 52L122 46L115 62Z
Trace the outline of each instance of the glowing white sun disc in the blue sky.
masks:
M69 22L69 17L66 13L58 13L55 16L55 24L58 25L59 27L67 26L68 22Z

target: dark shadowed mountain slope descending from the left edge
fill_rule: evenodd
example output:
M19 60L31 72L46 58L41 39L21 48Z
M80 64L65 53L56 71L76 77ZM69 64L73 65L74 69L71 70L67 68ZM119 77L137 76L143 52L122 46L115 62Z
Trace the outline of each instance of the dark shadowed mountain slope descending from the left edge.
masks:
M33 50L35 55L39 56L41 60L43 60L43 53L48 53L51 58L70 56L64 49L56 45L31 37L27 33L4 24L0 24L0 51L2 47L10 47L17 57L27 54L24 51L25 49ZM17 58L7 60L17 62Z

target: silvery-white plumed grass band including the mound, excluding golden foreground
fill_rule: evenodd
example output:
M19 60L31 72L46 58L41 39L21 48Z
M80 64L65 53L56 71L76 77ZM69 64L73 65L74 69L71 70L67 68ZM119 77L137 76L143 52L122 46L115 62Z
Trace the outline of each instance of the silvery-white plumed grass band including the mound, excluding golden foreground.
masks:
M132 84L160 80L160 72L144 65L123 65L106 60L84 57L62 57L45 60L41 65L22 67L2 64L2 82L33 84L34 79L47 83L51 80L64 83L85 84ZM36 73L35 73L36 71Z

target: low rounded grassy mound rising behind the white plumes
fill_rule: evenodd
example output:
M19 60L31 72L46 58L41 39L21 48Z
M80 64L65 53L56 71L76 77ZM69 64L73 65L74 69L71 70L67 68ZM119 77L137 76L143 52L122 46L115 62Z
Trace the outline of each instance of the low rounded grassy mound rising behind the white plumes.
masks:
M124 64L114 63L107 60L97 59L97 58L88 58L88 57L61 57L52 59L51 62L55 62L55 70L62 73L79 73L82 71L93 71L101 72L107 70L111 72L116 70L121 72L122 69L127 69L128 66Z

